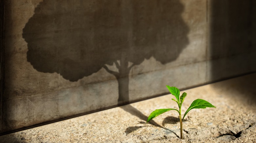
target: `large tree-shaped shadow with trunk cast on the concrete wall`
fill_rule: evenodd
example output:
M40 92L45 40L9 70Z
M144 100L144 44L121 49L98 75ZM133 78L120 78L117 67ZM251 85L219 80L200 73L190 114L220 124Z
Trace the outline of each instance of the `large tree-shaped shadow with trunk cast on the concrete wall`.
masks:
M27 60L72 82L104 68L117 79L118 103L127 103L133 66L172 62L188 44L183 9L179 0L43 0L23 29Z

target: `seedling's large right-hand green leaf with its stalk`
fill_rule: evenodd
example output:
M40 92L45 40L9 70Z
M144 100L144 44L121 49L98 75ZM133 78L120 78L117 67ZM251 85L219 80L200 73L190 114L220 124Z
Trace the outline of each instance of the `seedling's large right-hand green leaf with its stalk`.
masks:
M191 105L188 107L187 111L185 112L184 116L183 116L183 119L182 121L184 120L185 116L187 115L187 113L191 110L191 109L204 109L206 107L214 107L216 108L215 106L213 106L211 103L203 100L203 99L196 99L194 100Z

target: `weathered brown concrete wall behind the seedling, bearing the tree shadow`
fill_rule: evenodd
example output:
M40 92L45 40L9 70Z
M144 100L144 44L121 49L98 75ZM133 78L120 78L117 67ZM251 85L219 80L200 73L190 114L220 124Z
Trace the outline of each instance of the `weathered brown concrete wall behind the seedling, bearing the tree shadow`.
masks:
M2 2L0 133L256 71L253 1Z

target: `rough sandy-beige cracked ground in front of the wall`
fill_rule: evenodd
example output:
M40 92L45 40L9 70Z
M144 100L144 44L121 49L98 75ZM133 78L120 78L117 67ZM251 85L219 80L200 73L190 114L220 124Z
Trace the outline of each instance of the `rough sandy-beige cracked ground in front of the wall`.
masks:
M170 85L175 86L175 85ZM256 142L256 74L188 90L182 113L195 99L216 108L193 109L183 122L166 112L146 124L155 109L177 108L165 95L8 135L1 142Z

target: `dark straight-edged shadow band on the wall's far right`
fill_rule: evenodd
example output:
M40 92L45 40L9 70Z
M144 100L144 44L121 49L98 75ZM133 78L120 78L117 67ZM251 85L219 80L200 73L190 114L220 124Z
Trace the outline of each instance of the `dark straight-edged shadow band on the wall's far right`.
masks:
M249 55L256 52L255 1L212 0L210 6L211 80L251 71L250 64L256 64ZM247 56L238 59L239 55Z

